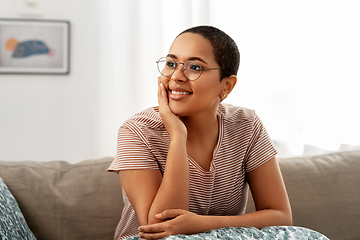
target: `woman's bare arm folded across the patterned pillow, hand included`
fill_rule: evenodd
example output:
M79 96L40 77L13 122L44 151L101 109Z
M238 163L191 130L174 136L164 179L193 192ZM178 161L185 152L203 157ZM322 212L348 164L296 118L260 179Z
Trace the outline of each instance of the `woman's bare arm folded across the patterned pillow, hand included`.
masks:
M247 174L256 212L238 216L200 216L169 209L158 215L166 222L140 227L140 236L147 239L175 234L194 234L224 227L265 227L292 225L292 214L285 185L275 158Z

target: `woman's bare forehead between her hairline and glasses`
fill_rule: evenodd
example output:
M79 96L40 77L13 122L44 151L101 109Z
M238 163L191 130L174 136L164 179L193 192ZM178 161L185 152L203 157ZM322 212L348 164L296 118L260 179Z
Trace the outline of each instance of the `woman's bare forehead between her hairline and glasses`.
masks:
M171 45L169 54L175 55L178 60L200 57L208 63L215 61L210 41L197 33L183 33L178 36Z

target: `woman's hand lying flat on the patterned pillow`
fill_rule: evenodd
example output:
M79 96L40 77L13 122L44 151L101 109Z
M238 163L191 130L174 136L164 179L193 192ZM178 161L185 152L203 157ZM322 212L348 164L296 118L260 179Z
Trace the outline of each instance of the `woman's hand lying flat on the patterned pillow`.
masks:
M200 224L201 216L183 209L168 209L155 217L164 222L140 226L138 235L140 238L161 239L169 235L203 232Z

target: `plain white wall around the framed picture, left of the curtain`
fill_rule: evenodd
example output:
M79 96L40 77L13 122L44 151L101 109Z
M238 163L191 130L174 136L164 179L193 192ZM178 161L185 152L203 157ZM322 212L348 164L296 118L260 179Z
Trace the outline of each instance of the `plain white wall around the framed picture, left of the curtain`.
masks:
M0 74L0 160L67 160L96 156L98 135L98 1L43 0L41 16L19 15L0 0L0 18L68 20L69 75Z

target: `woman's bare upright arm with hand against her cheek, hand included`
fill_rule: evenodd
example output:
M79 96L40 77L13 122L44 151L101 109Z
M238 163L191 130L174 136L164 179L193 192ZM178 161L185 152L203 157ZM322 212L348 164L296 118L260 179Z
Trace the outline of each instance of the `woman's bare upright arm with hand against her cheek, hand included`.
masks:
M189 209L189 165L186 150L187 130L174 115L162 84L158 92L159 112L170 135L170 145L163 176L160 170L120 172L122 186L140 225L161 222L155 214L166 209Z

